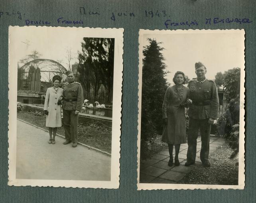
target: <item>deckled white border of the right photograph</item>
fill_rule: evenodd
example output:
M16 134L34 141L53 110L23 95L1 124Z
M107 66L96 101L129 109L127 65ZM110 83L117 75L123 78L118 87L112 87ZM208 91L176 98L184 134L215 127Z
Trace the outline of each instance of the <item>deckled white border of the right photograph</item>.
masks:
M245 158L244 158L244 138L245 138L245 66L240 67L240 129L239 129L239 168L238 168L238 185L197 185L197 184L164 184L164 183L140 183L140 130L141 130L141 108L142 108L142 59L143 59L143 37L144 34L184 34L184 33L240 33L241 39L243 39L243 45L245 40L244 29L189 29L189 30L145 30L139 31L139 91L138 91L138 153L137 153L137 189L138 190L154 190L154 189L244 189L245 186ZM243 46L243 50L245 46ZM243 62L245 64L245 61Z

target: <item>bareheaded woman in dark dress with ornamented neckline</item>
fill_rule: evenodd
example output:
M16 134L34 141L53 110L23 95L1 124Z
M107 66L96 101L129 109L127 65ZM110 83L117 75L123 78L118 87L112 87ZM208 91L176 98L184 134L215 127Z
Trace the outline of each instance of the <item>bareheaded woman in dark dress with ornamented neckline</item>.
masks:
M189 98L189 88L185 84L185 74L177 71L173 77L174 86L168 87L163 100L163 135L162 141L169 147L170 160L173 165L173 144L175 144L175 166L179 166L179 148L187 143L185 126L185 106Z

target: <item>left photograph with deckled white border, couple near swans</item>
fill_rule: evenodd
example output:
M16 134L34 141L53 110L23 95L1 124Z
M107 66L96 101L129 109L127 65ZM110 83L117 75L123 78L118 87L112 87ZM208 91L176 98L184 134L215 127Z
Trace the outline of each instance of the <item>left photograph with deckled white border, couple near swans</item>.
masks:
M9 182L119 187L123 29L9 27Z

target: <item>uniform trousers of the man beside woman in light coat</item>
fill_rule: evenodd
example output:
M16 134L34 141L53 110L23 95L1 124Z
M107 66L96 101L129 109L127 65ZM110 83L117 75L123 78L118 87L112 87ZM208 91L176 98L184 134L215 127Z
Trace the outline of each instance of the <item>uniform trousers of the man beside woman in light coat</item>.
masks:
M65 139L77 142L77 125L78 114L75 115L75 110L63 109L63 126L65 129Z

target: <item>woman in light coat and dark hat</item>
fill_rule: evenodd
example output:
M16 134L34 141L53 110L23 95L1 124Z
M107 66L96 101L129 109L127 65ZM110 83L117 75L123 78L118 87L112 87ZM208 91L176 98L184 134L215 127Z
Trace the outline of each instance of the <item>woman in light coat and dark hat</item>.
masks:
M44 112L46 115L46 127L49 127L49 144L55 144L57 127L61 127L61 106L59 98L63 95L63 89L59 88L61 77L53 76L53 87L48 88L45 94ZM52 137L53 134L53 137Z

